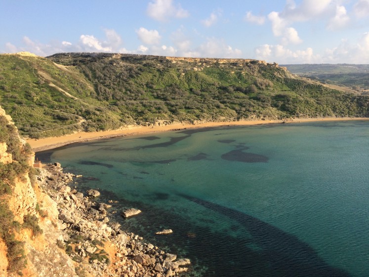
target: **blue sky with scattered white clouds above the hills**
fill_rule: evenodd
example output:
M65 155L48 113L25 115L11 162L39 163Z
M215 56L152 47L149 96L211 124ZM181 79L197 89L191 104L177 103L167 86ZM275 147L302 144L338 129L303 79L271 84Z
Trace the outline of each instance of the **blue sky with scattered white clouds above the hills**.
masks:
M0 0L0 53L369 64L369 0Z

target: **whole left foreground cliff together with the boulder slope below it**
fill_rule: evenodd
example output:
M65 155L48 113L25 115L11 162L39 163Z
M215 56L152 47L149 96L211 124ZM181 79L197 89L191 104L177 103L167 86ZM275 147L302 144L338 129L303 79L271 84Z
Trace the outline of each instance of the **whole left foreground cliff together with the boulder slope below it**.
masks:
M34 169L34 153L0 107L0 277L171 277L186 272L143 238L110 222L114 203L72 189L60 164Z

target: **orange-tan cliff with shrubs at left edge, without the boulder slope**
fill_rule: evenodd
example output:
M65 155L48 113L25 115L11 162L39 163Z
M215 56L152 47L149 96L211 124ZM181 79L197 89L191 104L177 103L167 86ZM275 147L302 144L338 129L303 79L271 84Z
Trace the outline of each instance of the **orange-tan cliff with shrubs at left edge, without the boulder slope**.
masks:
M57 246L56 203L36 182L34 153L10 120L0 108L0 276L76 276Z

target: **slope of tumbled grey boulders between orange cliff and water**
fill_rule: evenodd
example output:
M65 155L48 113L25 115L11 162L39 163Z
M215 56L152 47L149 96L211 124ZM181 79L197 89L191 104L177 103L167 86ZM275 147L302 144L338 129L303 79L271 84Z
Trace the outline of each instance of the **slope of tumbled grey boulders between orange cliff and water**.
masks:
M177 260L176 255L143 242L139 235L111 222L107 214L114 201L99 203L95 201L98 191L82 193L71 188L69 184L76 176L63 173L59 163L45 165L39 171L40 186L59 211L61 234L57 245L72 258L77 275L171 277L189 270L189 259Z

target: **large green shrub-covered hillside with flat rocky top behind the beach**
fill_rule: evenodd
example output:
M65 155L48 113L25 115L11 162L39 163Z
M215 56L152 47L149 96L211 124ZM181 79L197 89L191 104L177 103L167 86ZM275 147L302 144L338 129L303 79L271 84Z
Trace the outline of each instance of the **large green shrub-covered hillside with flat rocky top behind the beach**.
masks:
M23 136L173 122L365 117L369 97L249 59L0 55L0 104Z

